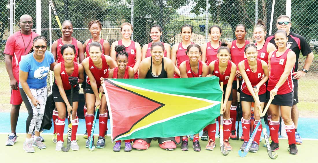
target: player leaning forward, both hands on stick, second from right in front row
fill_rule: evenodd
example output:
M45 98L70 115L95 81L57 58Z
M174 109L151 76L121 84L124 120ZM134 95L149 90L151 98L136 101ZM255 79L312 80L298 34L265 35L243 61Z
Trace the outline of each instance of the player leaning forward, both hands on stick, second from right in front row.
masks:
M268 80L268 66L265 61L257 58L257 47L254 44L245 45L246 59L239 62L239 71L243 77L240 100L243 110L241 118L244 142L241 151L245 150L248 140L250 139L251 129L251 107L254 102L254 128L259 122L258 109L264 108L266 102L266 85ZM264 77L263 77L264 76ZM256 86L256 88L253 88ZM259 94L259 97L255 95ZM259 149L259 138L262 133L262 125L259 126L254 141L250 147L250 152L257 152Z

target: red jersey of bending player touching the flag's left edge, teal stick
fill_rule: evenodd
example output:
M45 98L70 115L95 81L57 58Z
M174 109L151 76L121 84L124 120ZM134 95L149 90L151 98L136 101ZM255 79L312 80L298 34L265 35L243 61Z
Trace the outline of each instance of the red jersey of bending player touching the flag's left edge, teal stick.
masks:
M96 84L97 84L97 88L100 87L100 78L108 78L108 65L107 65L107 61L104 55L101 55L101 60L102 60L102 64L103 67L101 69L98 69L91 58L88 58L88 63L89 63L89 70L92 72L95 80L96 80ZM87 77L86 79L87 84L91 85L89 82L89 78Z

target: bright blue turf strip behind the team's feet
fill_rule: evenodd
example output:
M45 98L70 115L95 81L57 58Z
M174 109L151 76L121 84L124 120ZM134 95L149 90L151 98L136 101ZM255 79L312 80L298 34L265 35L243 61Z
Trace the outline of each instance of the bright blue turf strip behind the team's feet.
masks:
M19 115L19 120L17 124L17 133L25 133L25 121L26 118L28 117L28 113L20 113ZM66 124L67 124L67 119L66 119ZM98 119L97 122L98 124ZM10 113L7 112L1 112L0 113L0 132L10 132ZM311 139L318 139L318 128L315 127L315 125L318 124L318 118L299 118L298 121L298 133L301 134L302 138L311 138ZM108 132L107 134L110 134L110 123L108 120ZM218 126L218 125L217 125ZM83 134L86 130L85 126L85 119L79 119L79 127L77 133ZM64 132L66 133L67 131L67 125L65 125L65 130ZM95 128L95 133L99 133L99 127L96 125ZM241 135L242 129L240 126L240 134ZM51 130L45 130L43 133L53 133L53 126ZM202 132L200 133L200 135Z

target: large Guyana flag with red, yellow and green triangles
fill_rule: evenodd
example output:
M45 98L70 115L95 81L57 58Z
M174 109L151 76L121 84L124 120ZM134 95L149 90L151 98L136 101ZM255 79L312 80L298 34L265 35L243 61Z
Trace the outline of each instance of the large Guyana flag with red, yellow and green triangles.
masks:
M219 78L105 79L111 138L196 134L220 115Z

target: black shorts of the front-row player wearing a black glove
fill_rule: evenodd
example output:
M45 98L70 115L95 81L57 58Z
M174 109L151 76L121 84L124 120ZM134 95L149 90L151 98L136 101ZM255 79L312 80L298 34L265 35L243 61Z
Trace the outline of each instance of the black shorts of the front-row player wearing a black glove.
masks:
M66 93L67 100L71 100L71 90L64 90ZM79 101L79 85L77 85L73 90L73 102ZM54 102L64 102L60 92L59 87L54 83L52 86L52 92L53 92L53 101Z

